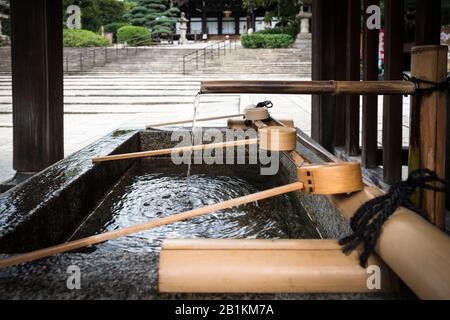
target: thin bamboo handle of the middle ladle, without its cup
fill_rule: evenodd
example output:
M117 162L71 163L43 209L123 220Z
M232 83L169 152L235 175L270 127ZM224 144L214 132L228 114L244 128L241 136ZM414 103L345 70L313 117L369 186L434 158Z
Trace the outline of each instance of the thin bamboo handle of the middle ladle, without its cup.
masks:
M211 149L219 149L219 148L233 148L233 147L253 145L253 144L258 144L258 139L246 139L246 140L230 141L230 142L223 142L223 143L203 144L203 145L198 145L198 146L188 146L188 147L169 148L169 149L162 149L162 150L124 153L124 154L117 154L117 155L112 155L112 156L92 158L92 162L93 163L101 163L101 162L106 162L106 161L156 157L156 156L169 155L169 154L182 153L182 152L202 151L202 150L211 150Z

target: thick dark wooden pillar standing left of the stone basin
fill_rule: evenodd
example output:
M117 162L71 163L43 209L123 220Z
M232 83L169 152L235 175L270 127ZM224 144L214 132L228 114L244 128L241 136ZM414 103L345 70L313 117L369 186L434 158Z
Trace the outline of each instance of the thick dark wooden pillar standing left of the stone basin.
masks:
M37 172L64 157L62 1L11 1L13 167Z

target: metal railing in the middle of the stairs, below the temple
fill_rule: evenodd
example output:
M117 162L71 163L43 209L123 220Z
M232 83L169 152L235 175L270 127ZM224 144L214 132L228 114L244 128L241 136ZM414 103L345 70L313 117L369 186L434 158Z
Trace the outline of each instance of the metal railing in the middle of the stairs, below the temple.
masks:
M183 56L183 74L186 74L186 67L188 63L193 63L195 69L198 70L200 63L203 63L203 67L206 67L207 61L214 61L220 59L221 55L226 56L227 50L231 52L233 49L237 49L237 40L229 39L222 40L220 42L214 42L206 47L198 49L194 52L188 53Z

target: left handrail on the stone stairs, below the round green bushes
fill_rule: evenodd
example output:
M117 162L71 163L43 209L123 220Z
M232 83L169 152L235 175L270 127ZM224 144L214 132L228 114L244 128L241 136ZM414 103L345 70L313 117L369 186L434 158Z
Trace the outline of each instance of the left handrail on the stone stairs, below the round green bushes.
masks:
M136 40L142 39L140 41L137 41L135 43L135 51L134 53L137 53L137 49L138 46L146 41L149 40L149 37L147 36L137 36L134 38L131 38L128 40L128 42L135 42ZM96 67L96 52L97 51L104 51L104 56L105 58L103 59L103 65L105 65L106 63L108 63L108 49L115 49L116 55L115 55L115 60L118 59L119 57L119 50L122 49L125 50L125 56L128 56L128 51L129 51L129 45L128 43L124 43L123 46L121 48L119 48L119 43L116 43L115 46L110 46L110 45L106 45L106 46L101 46L101 47L95 47L95 48L81 48L81 52L77 52L77 53L73 53L71 55L67 55L64 56L64 63L65 63L65 72L66 73L70 73L70 72L83 72L83 62L86 61L88 58L90 58L90 56L92 56L92 67ZM85 56L83 59L83 55ZM74 59L79 61L79 68L77 68L77 70L70 70L70 61L73 61Z

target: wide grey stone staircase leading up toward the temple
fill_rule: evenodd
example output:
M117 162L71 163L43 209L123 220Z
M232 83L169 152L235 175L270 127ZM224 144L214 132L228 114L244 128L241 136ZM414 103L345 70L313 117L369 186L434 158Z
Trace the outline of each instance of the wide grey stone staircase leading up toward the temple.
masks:
M78 51L83 49L64 50L69 61L64 60L66 68L69 64L73 73L78 73ZM83 55L83 69L90 73L146 73L146 74L181 74L183 73L183 56L195 53L196 48L177 47L146 47L129 48L128 55L124 50L108 49L108 63L104 63L105 54L99 49L96 54L97 66L93 66L92 53ZM82 52L82 51L80 51ZM297 77L311 76L311 49L244 49L240 45L237 49L226 54L208 51L206 65L199 54L199 68L197 69L195 55L186 63L186 73L191 75L246 75L272 74L295 75ZM9 47L0 48L0 72L11 72L11 52Z

